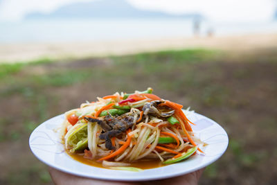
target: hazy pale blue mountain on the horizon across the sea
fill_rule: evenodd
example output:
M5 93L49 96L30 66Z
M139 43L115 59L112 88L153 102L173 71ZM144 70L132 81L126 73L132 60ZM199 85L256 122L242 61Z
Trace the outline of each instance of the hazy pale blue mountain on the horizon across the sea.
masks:
M102 0L83 3L73 3L71 5L62 6L58 10L50 14L40 12L32 12L28 14L26 19L40 19L40 18L143 18L143 17L157 17L157 18L190 18L199 17L197 14L186 15L170 15L158 11L139 10L129 5L124 0Z

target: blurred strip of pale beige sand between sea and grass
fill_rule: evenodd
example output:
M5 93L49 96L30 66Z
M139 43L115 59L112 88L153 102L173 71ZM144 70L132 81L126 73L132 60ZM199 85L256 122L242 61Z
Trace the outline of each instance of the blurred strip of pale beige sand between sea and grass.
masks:
M63 59L126 55L168 49L210 48L246 51L275 46L277 46L276 33L225 37L114 40L110 42L0 44L0 63L28 62L40 58Z

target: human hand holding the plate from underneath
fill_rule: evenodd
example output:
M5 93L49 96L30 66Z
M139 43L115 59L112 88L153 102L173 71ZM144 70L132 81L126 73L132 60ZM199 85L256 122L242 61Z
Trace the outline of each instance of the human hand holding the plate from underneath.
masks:
M100 179L88 179L84 177L78 177L75 175L71 175L68 173L63 173L59 170L54 168L49 168L49 173L53 179L53 182L57 185L91 185L91 184L112 184L112 185L136 185L136 184L184 184L184 185L196 185L201 177L204 168L197 170L193 173L188 173L186 175L181 175L179 177L172 177L170 179L161 179L155 181L148 181L148 182L112 182L112 181L105 181Z

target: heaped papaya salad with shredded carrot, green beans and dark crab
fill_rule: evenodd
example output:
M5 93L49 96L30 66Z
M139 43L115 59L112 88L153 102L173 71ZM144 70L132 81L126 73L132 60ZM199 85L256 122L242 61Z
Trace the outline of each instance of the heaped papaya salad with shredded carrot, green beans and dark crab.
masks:
M82 103L65 113L60 130L69 154L105 168L134 170L141 159L173 164L202 150L182 105L163 100L152 89L116 94Z

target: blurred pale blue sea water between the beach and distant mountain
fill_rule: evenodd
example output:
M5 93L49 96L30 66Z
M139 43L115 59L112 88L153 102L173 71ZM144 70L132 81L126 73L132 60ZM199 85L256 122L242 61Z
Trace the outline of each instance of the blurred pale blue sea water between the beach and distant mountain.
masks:
M277 32L277 21L200 23L200 36ZM193 19L28 19L0 22L0 44L93 42L193 36Z

